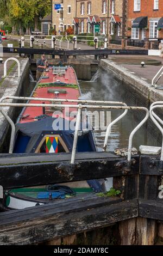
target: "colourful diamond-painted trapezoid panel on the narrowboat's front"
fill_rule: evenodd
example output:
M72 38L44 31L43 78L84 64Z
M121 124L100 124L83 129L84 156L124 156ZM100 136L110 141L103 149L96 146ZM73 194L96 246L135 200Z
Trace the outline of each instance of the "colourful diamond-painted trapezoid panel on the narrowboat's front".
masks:
M68 153L66 144L59 135L46 135L35 153Z

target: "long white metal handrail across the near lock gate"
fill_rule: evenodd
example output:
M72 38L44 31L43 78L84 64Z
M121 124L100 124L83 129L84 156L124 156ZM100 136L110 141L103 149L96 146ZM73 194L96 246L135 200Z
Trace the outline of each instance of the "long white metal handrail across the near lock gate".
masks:
M39 104L39 103L2 103L2 101L4 99L15 99L16 97L3 97L1 99L1 103L0 103L0 112L2 113L3 109L2 107L60 107L60 104ZM46 101L64 101L64 100L60 100L60 99L40 99L40 98L28 98L28 97L18 97L18 99L22 100L22 99L32 99L32 100L46 100ZM80 102L79 105L62 105L63 108L69 107L69 108L78 108L78 114L77 114L77 120L76 120L76 129L74 132L74 141L73 141L73 149L72 149L72 156L71 156L71 164L74 164L75 161L75 156L76 156L76 149L77 149L77 141L78 141L78 132L79 132L79 124L80 124L80 115L82 112L83 108L86 109L124 109L124 110L128 110L128 109L132 109L132 110L140 110L140 111L145 111L146 112L146 117L141 121L141 123L139 125L136 126L136 128L131 132L130 137L129 137L129 146L128 146L128 161L131 161L131 148L132 148L132 144L133 144L133 136L135 135L135 133L140 129L140 127L147 121L148 117L149 117L149 111L147 108L145 107L128 107L128 106L96 106L96 105L82 105L80 100L65 100L65 102ZM90 101L91 103L106 103L105 101ZM82 103L90 103L89 101L83 101ZM115 102L114 102L115 103ZM123 103L123 102L121 102ZM110 104L110 102L109 102ZM118 102L118 104L120 104L120 102ZM124 103L123 103L124 104ZM8 117L9 118L9 117ZM122 118L122 117L121 117ZM12 122L13 123L13 122ZM12 132L13 135L13 132ZM13 138L11 139L12 143L13 143ZM12 145L13 149L14 144ZM11 153L11 152L10 152Z

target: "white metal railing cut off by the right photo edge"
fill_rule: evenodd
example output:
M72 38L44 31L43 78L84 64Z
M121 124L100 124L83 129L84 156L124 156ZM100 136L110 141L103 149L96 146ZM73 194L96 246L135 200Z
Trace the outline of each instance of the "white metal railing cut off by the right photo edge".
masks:
M160 130L160 132L162 134L162 148L161 148L160 160L163 161L163 129L161 127L161 125L163 125L163 121L162 121L161 118L158 117L158 115L156 115L154 113L154 109L156 109L156 108L163 108L163 101L156 101L156 102L154 102L151 105L150 111L149 111L150 118L152 119L153 123L156 125L156 127L158 127L158 129Z

